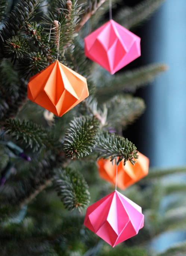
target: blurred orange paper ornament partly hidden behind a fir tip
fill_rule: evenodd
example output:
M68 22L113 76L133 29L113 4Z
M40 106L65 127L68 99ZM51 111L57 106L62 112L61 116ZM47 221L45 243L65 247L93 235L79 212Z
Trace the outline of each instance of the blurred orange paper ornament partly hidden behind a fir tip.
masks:
M140 152L137 153L139 158L135 159L135 165L127 161L124 166L124 160L118 165L117 171L117 187L125 189L135 182L148 175L149 171L149 158ZM97 161L98 172L101 178L111 182L115 185L116 183L116 166L112 165L109 159L100 158Z

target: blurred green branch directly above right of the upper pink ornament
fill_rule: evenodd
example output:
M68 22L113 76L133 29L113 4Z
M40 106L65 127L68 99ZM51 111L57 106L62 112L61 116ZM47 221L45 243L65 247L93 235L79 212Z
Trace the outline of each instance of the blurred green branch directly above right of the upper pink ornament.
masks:
M139 26L139 24L147 20L164 1L165 0L143 0L138 5L134 6L134 8L124 7L117 13L115 20L126 29Z

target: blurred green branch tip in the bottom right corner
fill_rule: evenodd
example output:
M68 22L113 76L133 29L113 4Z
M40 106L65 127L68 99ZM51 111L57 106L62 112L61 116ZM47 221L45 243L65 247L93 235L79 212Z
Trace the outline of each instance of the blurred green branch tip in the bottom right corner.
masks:
M177 243L169 247L163 253L158 253L157 256L185 256L186 242Z

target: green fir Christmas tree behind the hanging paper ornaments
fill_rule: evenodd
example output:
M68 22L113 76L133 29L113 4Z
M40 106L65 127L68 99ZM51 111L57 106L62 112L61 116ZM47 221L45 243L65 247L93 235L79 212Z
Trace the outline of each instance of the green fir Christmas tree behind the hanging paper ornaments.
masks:
M113 19L133 29L162 2L143 0L129 8L113 0ZM152 239L185 223L186 186L162 182L185 172L183 167L151 169L120 190L142 207L145 224L138 235L112 248L83 225L86 208L114 190L99 177L97 159L135 165L138 151L125 130L145 111L145 102L133 94L166 69L151 64L111 75L84 55L83 39L109 20L109 6L104 0L0 0L2 256L157 255L148 246ZM30 78L57 59L85 77L89 89L89 97L61 117L27 98ZM159 213L171 193L180 200ZM185 250L182 243L158 255Z

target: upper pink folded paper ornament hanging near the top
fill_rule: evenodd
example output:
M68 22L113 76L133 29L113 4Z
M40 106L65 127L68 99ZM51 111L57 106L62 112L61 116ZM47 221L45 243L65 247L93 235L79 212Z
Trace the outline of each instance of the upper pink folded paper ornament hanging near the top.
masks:
M140 38L109 20L84 39L85 55L114 74L141 55Z

